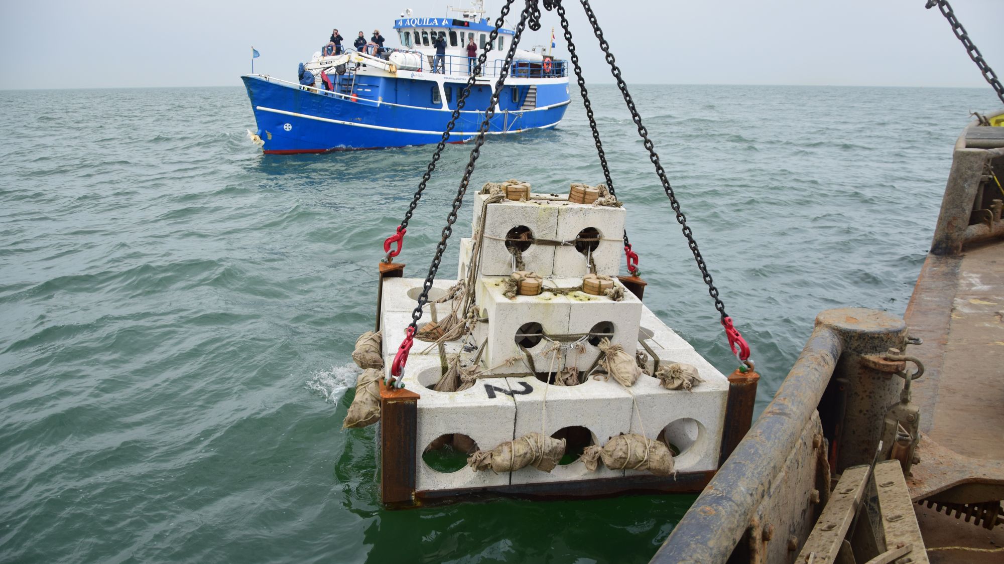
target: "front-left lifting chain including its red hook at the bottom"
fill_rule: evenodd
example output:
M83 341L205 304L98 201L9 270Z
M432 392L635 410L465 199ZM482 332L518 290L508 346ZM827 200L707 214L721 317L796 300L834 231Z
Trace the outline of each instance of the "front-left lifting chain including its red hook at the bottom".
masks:
M509 14L509 8L513 0L509 0L505 6L502 7L502 13L499 15L498 20L496 20L498 24L492 31L489 41L495 41L498 29L501 27L505 16ZM495 107L498 103L499 95L502 93L502 87L505 84L505 79L509 75L509 67L512 65L512 60L516 56L516 46L519 45L519 38L523 35L523 30L526 29L527 19L533 13L533 8L536 7L536 4L537 0L526 0L526 5L520 13L519 23L516 24L512 41L509 43L509 50L506 51L505 60L502 63L502 68L499 70L499 76L495 81L495 87L492 89L492 97L488 103L488 109L485 110L485 118L481 122L481 126L478 128L478 136L474 140L474 149L471 150L471 157L467 162L467 168L464 170L464 177L460 181L460 187L457 189L457 196L453 200L453 208L450 210L450 215L447 216L446 227L443 228L443 236L440 239L439 244L436 245L436 256L433 257L433 262L429 266L429 274L426 276L426 280L422 284L422 293L419 295L418 305L416 305L415 310L412 311L412 322L409 324L408 329L405 332L405 340L402 341L401 346L398 347L398 353L394 357L394 363L391 365L391 375L385 381L387 385L391 385L392 381L397 387L404 387L405 385L403 379L405 363L408 361L408 353L414 342L415 333L419 325L419 319L422 318L422 308L429 302L429 291L433 287L433 281L436 279L436 273L439 271L440 263L443 260L443 254L446 252L447 242L449 241L450 236L453 235L453 224L456 223L457 215L460 212L461 206L464 204L464 195L467 193L467 187L471 182L471 175L474 174L474 165L477 163L478 157L481 156L481 146L485 144L485 132L487 132L488 127L491 124L492 116L495 115ZM537 26L538 28L540 26L539 19L537 20Z

